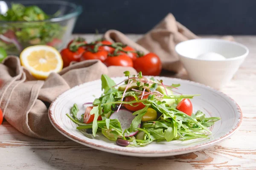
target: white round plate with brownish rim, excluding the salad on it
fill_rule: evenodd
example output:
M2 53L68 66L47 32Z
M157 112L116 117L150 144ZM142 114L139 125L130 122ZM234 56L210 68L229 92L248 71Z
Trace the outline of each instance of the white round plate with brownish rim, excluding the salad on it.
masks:
M124 79L125 77L113 78L116 83ZM58 96L49 108L49 119L60 133L80 144L106 152L142 157L173 156L201 150L227 139L241 125L241 109L229 96L205 85L188 80L167 77L156 77L156 79L163 79L166 85L180 83L181 86L178 92L182 94L201 94L201 96L195 96L194 99L191 99L193 112L201 110L207 117L221 117L221 120L215 122L215 125L210 127L212 131L210 139L153 142L145 147L120 147L102 135L93 137L90 134L77 130L77 125L66 116L66 113L70 113L70 108L76 103L79 106L79 114L82 114L85 111L85 108L82 106L83 103L93 102L95 97L101 95L101 80L84 83Z

